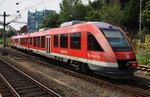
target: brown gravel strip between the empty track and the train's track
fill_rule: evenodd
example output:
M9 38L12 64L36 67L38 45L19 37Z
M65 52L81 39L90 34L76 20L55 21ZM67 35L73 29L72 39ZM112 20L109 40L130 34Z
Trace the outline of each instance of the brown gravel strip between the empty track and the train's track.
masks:
M7 62L38 80L48 88L60 93L63 97L131 97L124 91L116 90L107 85L100 86L83 79L73 77L61 71L49 68L29 60L17 60L8 55L0 56Z

